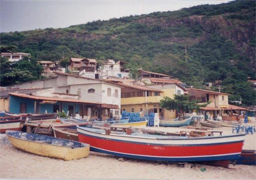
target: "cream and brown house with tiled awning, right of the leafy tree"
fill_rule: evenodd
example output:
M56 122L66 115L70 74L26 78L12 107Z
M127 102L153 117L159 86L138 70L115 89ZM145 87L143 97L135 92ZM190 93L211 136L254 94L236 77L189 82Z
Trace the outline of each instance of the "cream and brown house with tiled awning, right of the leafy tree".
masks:
M248 110L244 107L234 106L228 104L228 93L221 93L209 90L188 89L190 95L190 100L199 100L201 104L204 104L207 101L211 101L206 107L200 108L200 113L204 116L206 112L212 114L213 118L222 116L223 120L226 121L239 121L244 118L244 113Z

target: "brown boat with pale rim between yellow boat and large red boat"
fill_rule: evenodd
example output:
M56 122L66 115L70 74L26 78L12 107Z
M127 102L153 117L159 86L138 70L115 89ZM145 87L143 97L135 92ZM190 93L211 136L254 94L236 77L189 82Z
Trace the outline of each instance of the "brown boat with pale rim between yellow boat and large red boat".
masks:
M63 138L68 140L78 141L77 130L70 128L56 128L52 127L54 137Z

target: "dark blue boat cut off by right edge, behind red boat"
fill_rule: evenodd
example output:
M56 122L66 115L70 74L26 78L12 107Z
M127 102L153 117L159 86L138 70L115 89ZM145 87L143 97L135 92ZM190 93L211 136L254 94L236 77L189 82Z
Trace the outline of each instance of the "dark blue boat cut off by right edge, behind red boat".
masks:
M245 165L256 165L256 153L255 150L245 150L242 149L240 158L237 160L236 164Z

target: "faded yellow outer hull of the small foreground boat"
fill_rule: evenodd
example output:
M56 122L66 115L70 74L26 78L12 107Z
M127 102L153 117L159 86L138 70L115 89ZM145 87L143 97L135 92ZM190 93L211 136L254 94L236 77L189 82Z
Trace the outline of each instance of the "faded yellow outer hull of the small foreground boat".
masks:
M7 133L8 135L8 133ZM52 145L41 142L33 142L26 139L20 139L8 135L10 143L21 150L37 154L40 156L54 157L58 159L63 159L65 161L72 159L80 159L88 156L89 154L89 145L86 147L79 148L68 148L60 145Z

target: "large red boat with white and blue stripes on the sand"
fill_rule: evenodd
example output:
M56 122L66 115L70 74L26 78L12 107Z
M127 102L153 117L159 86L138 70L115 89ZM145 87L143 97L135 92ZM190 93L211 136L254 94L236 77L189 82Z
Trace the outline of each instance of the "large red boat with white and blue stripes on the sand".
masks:
M110 132L77 126L79 142L90 150L152 161L219 161L239 159L245 134L209 137L170 137Z

